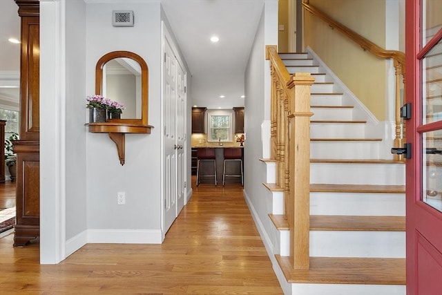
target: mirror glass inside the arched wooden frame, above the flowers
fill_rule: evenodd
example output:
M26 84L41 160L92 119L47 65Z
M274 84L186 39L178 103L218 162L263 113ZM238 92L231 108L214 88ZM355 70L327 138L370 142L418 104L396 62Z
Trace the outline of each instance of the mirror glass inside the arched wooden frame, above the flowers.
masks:
M103 67L103 96L124 104L122 119L141 119L141 66L119 57Z

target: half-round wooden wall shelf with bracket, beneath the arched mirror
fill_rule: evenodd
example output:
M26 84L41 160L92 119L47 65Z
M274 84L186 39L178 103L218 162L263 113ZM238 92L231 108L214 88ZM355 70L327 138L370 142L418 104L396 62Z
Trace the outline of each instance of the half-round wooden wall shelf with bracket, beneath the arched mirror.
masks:
M109 138L117 145L119 164L124 165L126 149L126 133L151 134L153 126L127 124L121 122L102 122L85 124L92 133L108 133Z

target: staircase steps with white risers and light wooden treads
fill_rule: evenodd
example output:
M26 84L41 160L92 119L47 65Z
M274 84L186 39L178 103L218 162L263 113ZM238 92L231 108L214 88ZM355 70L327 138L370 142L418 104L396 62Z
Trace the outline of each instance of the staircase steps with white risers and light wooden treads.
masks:
M267 165L276 274L285 294L405 295L405 165L383 160L369 115L311 53L280 54L289 73L309 72L311 86L310 269L289 263L276 163ZM278 275L279 274L279 275Z

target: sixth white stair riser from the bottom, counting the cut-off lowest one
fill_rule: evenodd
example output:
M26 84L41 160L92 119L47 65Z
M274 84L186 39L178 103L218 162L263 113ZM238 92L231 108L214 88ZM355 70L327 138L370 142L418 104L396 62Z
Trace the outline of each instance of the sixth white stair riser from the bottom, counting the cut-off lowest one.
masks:
M364 138L365 123L311 123L310 138Z

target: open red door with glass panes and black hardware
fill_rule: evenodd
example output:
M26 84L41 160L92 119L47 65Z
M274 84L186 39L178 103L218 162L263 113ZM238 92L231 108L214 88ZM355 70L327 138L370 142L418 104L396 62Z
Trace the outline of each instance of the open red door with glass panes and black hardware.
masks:
M442 0L406 0L407 294L442 295Z

